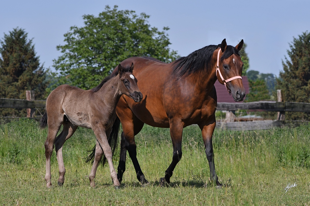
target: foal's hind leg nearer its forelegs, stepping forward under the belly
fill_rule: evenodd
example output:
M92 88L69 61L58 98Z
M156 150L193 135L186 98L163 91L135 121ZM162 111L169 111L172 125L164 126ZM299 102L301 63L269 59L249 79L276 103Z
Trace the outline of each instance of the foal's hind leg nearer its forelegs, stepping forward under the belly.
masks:
M69 139L78 128L78 126L73 125L71 122L69 122L69 120L64 121L63 125L64 128L60 135L58 135L58 137L56 138L55 142L55 150L57 154L59 168L59 186L62 186L64 184L64 174L66 173L66 169L64 168L64 160L62 159L62 146L64 145L64 142Z

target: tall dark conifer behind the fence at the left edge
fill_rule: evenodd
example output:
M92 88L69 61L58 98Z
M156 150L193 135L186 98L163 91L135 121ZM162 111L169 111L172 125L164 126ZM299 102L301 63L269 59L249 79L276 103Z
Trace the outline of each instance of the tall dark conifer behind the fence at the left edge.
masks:
M24 29L15 28L0 41L0 98L25 99L26 90L34 90L36 99L44 98L46 71L27 35ZM2 116L16 113L13 109L0 110Z

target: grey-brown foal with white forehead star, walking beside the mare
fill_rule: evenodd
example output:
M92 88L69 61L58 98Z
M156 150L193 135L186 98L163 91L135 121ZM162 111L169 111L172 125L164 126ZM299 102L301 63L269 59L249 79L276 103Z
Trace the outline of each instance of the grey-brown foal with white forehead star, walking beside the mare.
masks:
M105 78L93 89L82 90L78 87L60 85L47 97L46 112L40 121L41 128L48 126L48 135L44 144L47 187L52 186L50 159L54 144L59 165L58 185L62 186L64 184L66 170L62 158L62 146L73 135L78 126L92 129L97 138L95 153L92 154L94 162L89 175L90 185L95 187L96 170L104 153L103 164L107 159L114 186L120 187L112 163L120 124L118 119L114 123L117 118L115 108L123 94L134 102L142 100L142 94L137 86L137 79L132 74L133 63L126 65L125 68L119 64L117 70L111 76ZM63 125L63 130L56 137L61 125Z

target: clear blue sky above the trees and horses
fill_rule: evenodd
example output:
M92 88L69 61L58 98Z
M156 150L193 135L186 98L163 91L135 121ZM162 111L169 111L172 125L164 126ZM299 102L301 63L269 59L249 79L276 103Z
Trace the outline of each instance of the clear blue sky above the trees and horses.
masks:
M244 39L250 69L278 75L282 59L293 37L310 31L310 1L2 1L0 38L20 27L33 38L37 55L45 67L61 55L70 26L83 26L82 15L97 16L105 5L150 15L149 24L168 31L170 48L181 56L206 45L229 45Z

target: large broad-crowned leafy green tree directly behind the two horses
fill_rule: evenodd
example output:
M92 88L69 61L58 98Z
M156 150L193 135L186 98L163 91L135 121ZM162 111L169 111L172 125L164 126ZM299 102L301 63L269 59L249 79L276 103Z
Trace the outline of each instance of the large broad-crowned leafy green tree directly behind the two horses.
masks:
M63 55L54 60L60 72L58 84L68 83L90 89L107 76L122 60L131 56L151 56L164 62L177 57L169 49L165 33L148 24L149 16L135 11L106 6L99 16L84 15L85 26L70 27L64 34L66 44L57 46Z

